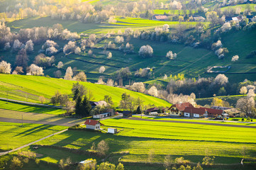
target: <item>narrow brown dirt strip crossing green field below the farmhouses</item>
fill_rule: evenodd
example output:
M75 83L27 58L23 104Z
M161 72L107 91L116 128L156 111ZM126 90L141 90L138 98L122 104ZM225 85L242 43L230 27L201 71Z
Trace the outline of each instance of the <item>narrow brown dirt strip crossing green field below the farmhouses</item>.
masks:
M235 128L255 128L256 126L247 126L247 125L230 125L230 124L221 124L221 123L201 123L201 122L191 122L191 121L177 121L177 120L150 120L150 119L141 119L141 118L127 118L130 120L141 120L141 121L150 121L150 122L169 122L169 123L189 123L189 124L197 124L197 125L216 125L216 126L227 126L227 127L235 127Z

